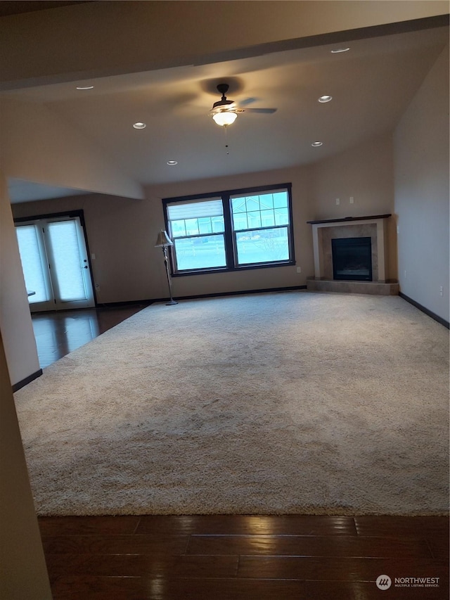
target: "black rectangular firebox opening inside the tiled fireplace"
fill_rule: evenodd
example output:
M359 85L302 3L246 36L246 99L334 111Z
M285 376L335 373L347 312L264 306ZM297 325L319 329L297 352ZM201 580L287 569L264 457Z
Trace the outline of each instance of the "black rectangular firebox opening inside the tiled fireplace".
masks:
M372 243L370 237L333 238L333 279L372 281Z

